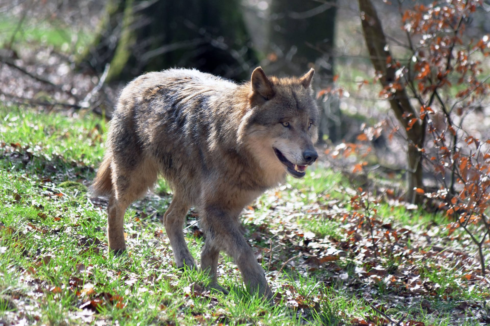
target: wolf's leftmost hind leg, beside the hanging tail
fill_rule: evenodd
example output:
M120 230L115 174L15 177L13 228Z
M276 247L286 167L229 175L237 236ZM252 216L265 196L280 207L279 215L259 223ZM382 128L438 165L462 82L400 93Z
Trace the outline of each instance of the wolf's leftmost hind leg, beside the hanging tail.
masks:
M109 248L116 254L126 250L124 240L124 213L137 198L142 197L157 177L156 165L149 159L141 160L131 166L113 160L112 192L109 197L107 237Z

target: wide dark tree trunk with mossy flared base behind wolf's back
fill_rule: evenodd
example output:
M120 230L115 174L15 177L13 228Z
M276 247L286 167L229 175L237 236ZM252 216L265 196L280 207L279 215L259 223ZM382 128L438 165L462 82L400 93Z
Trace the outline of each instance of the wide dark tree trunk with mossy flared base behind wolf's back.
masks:
M193 67L248 79L256 65L239 0L109 0L94 43L78 58L107 81L145 71Z

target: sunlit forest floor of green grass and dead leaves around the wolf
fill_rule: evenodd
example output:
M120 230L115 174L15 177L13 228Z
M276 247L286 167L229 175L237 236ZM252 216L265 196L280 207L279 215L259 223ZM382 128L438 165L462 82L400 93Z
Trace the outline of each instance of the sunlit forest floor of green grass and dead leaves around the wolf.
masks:
M86 191L104 151L100 117L1 107L0 119L0 325L490 323L490 280L471 241L389 186L365 191L318 165L246 207L269 304L247 294L227 256L227 296L175 268L163 181L126 213L127 254L108 254L107 201ZM185 233L198 261L197 219L191 210Z

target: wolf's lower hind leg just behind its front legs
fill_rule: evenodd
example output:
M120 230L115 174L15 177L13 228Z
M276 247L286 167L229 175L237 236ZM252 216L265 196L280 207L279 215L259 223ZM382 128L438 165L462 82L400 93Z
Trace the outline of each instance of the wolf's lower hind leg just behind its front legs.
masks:
M191 252L187 247L184 232L182 231L185 216L187 211L189 211L189 208L190 205L183 200L178 193L175 193L169 209L163 216L165 231L170 239L173 259L177 264L177 268L182 268L184 265L190 268L196 268L196 262L194 261L194 257L192 257Z

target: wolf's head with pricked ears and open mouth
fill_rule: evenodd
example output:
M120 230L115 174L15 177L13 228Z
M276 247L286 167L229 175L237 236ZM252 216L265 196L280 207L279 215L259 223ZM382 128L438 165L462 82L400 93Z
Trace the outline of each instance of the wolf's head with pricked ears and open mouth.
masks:
M300 78L267 77L261 67L252 72L250 109L240 132L269 174L286 171L300 178L318 158L313 147L319 125L319 109L311 88L314 72L311 69Z

